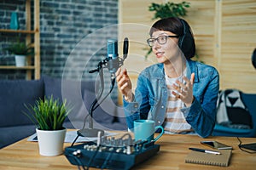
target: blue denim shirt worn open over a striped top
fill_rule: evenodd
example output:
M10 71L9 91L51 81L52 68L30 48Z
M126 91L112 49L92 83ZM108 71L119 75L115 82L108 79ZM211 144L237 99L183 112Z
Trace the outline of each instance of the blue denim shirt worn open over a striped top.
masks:
M195 133L205 138L212 133L216 117L216 104L219 90L218 71L200 62L188 59L187 76L195 73L193 95L190 107L183 107L186 121ZM148 66L137 78L137 88L132 102L124 102L126 122L133 129L133 121L137 119L154 120L155 126L162 125L166 118L168 92L163 64Z

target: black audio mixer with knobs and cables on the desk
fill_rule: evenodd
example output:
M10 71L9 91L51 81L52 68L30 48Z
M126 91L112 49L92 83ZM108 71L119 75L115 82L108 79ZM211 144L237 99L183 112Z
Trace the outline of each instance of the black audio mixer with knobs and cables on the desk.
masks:
M129 138L125 139L125 136ZM102 169L130 169L138 163L155 156L160 150L153 141L135 141L126 133L115 139L103 136L96 142L86 142L65 148L65 156L71 164L78 167Z

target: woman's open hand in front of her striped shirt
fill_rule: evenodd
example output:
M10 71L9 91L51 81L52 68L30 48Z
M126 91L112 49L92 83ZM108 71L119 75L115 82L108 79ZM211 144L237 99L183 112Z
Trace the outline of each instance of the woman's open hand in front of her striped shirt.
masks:
M172 91L172 94L175 95L177 99L181 99L186 107L189 107L194 101L193 85L195 73L191 74L190 81L187 77L183 77L183 80L184 83L177 80L176 84L172 84L172 88L175 89L175 91Z

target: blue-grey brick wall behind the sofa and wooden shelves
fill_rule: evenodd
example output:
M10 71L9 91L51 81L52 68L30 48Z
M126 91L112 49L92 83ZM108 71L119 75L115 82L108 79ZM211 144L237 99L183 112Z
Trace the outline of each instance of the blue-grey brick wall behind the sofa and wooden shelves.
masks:
M0 29L9 29L13 11L18 13L20 29L26 29L25 2L0 1ZM96 80L97 73L88 72L96 69L97 64L107 57L107 40L118 37L117 23L118 0L41 0L41 75ZM3 48L19 36L24 38L24 35L0 33L0 65L14 65L14 56ZM108 89L110 74L106 70L105 85ZM1 70L0 79L24 79L25 73L22 70ZM113 98L116 93L116 90L112 93Z

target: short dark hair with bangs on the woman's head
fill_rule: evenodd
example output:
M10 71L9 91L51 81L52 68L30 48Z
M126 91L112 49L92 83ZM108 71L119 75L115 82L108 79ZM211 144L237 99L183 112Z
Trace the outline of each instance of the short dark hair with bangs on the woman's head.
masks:
M184 28L186 26L186 28ZM195 39L189 24L178 17L169 17L165 19L158 20L151 26L149 35L152 37L154 31L171 31L179 38L183 37L184 29L186 29L186 36L189 38L185 38L183 42L184 44L189 44L187 47L181 48L186 59L190 59L195 56ZM188 41L189 40L189 41Z

